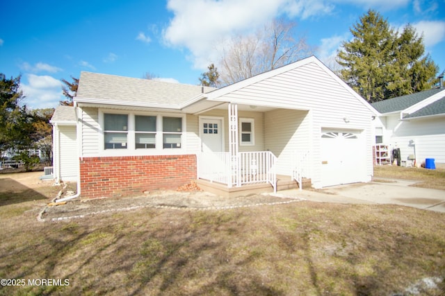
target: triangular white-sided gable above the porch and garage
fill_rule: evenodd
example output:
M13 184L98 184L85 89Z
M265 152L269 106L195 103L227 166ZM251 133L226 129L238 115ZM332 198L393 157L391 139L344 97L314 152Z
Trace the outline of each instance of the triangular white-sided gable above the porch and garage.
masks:
M332 96L330 92L333 89L337 93ZM241 97L246 98L254 96L254 94L257 95L258 100L252 103L258 103L256 105L266 106L274 102L276 107L293 105L302 110L312 109L312 105L315 104L314 97L324 100L330 100L332 97L349 98L372 114L380 115L364 98L359 96L314 55L216 89L207 96L210 100L242 104L246 102L242 101ZM275 101L272 96L275 96ZM303 101L305 102L303 103ZM319 103L324 104L325 102L327 101ZM299 105L299 103L302 104Z

